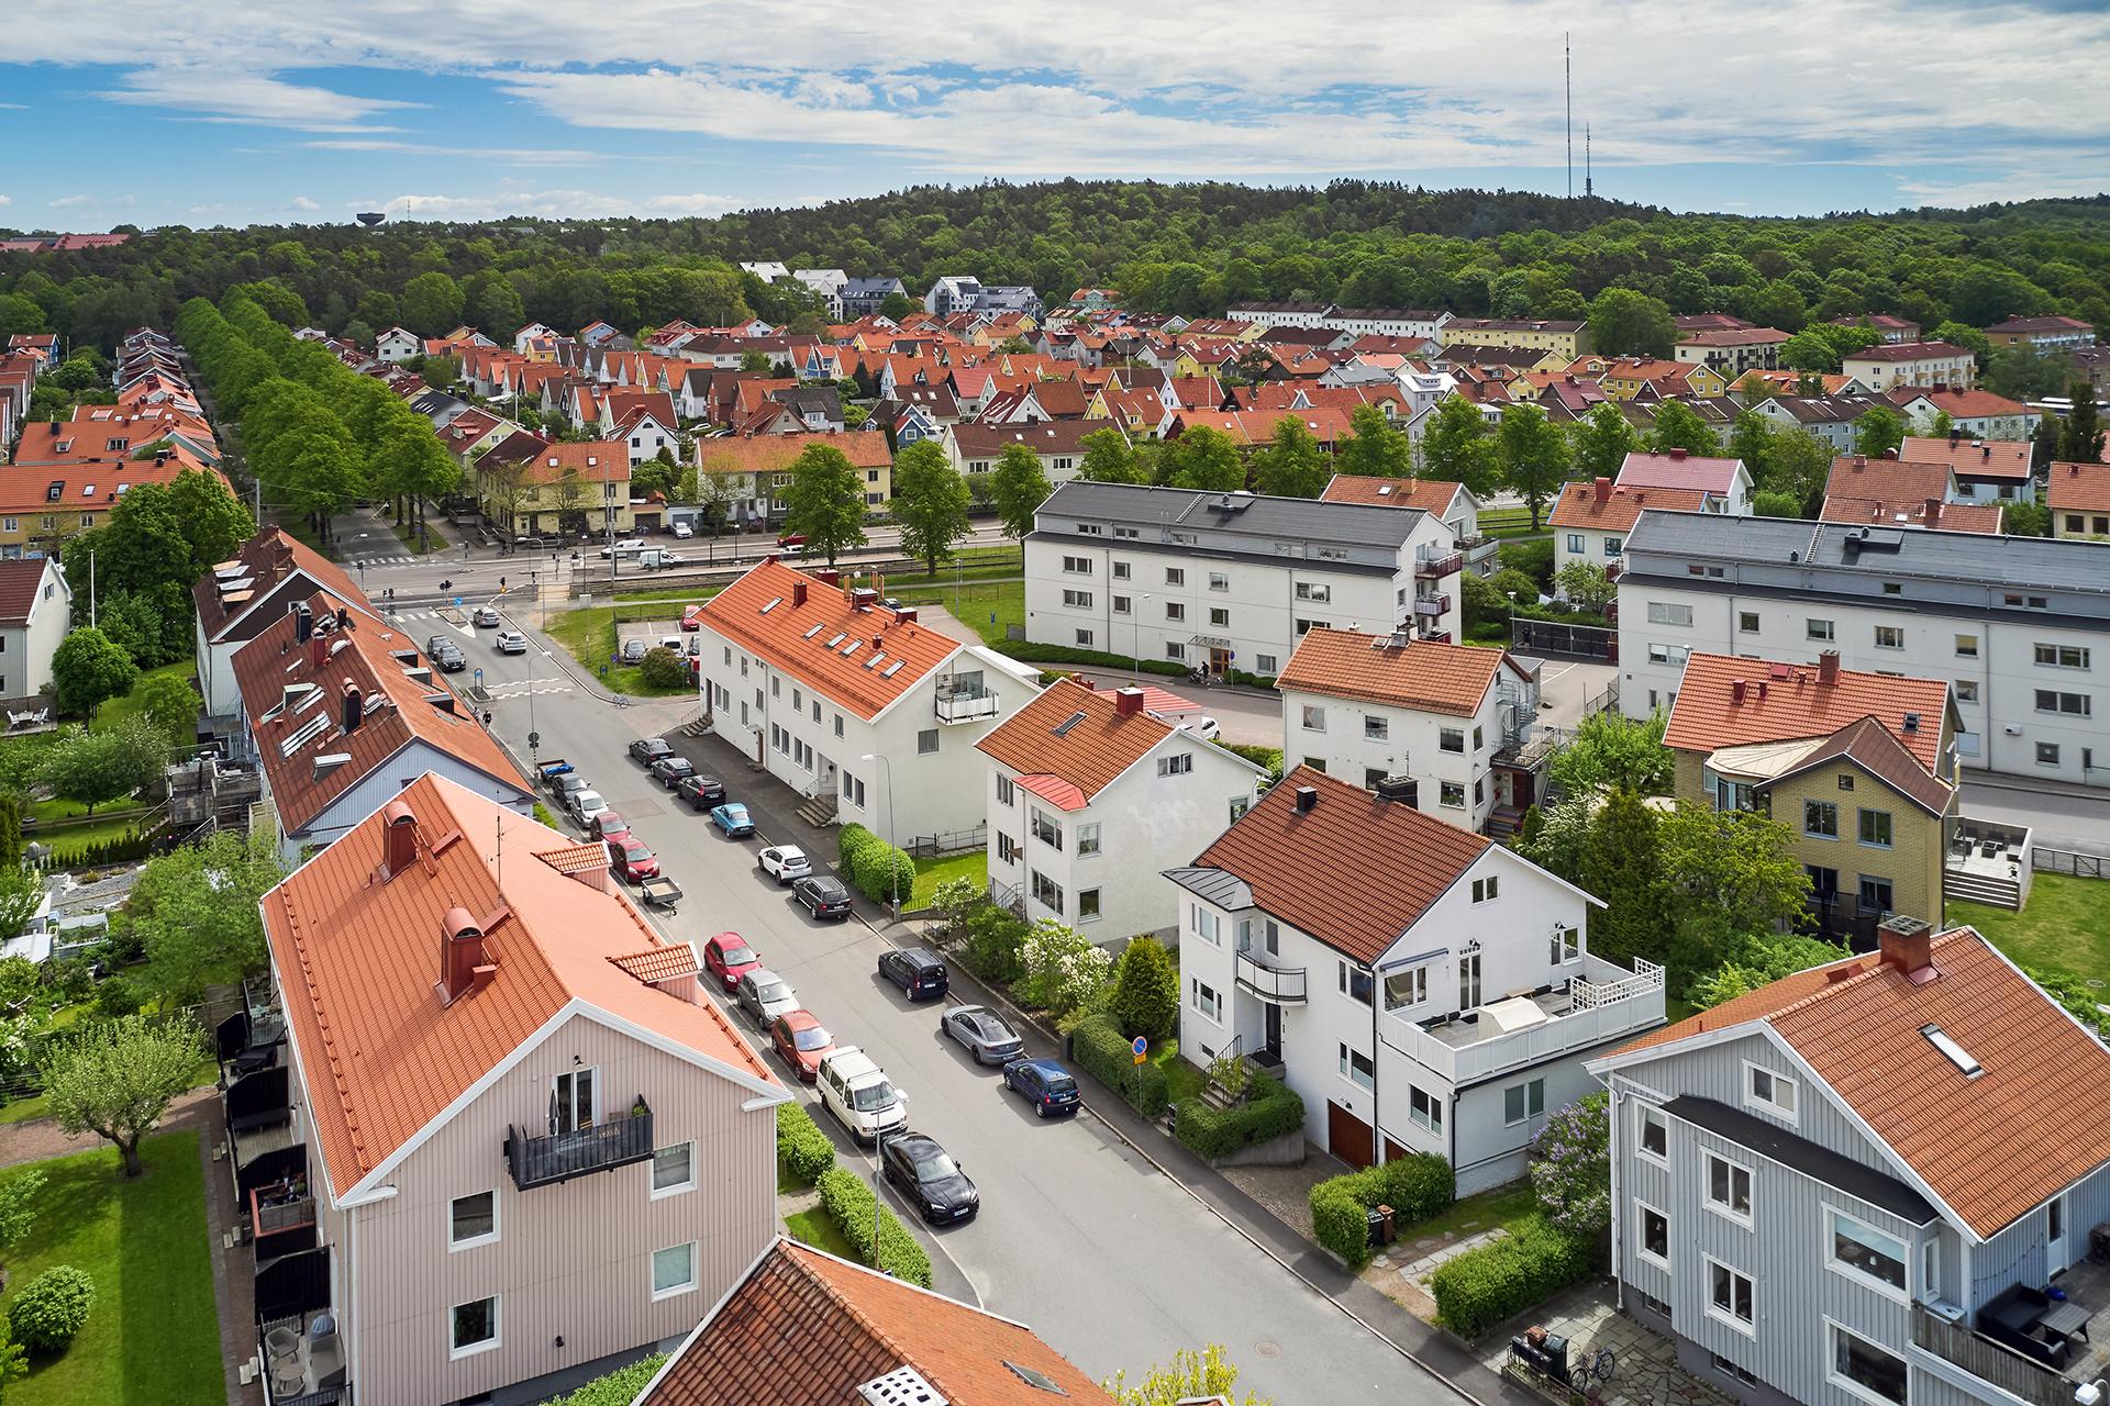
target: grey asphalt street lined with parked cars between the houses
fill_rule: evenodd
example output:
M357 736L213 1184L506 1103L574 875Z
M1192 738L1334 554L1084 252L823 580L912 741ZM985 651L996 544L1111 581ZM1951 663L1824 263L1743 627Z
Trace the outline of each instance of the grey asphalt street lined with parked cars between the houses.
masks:
M456 628L420 616L403 624L416 639ZM549 645L532 624L528 618L517 628L534 647L511 658L492 649L492 632L460 630L475 634L464 649L485 670L498 736L525 757L534 727L542 759L578 765L686 890L675 917L654 915L667 936L701 940L728 927L747 936L838 1041L865 1048L888 1071L909 1094L912 1126L939 1138L979 1185L975 1223L926 1235L937 1246L933 1258L950 1261L950 1269L939 1269L939 1288L971 1292L983 1307L1032 1324L1093 1376L1135 1372L1182 1347L1222 1343L1243 1368L1239 1385L1283 1406L1456 1400L1089 1113L1042 1124L1019 1098L1002 1094L996 1071L977 1069L937 1033L941 1003L909 1008L874 976L886 938L863 917L810 921L755 868L762 839L717 837L709 820L658 790L629 761L631 738L669 734L703 769L726 776L734 799L774 786L749 774L715 738L671 736L675 723L694 717L694 700L620 708L599 702L544 653ZM802 1096L810 1102L810 1094ZM817 1117L846 1159L869 1174L869 1155L850 1151L831 1117ZM905 1210L899 1199L893 1204Z

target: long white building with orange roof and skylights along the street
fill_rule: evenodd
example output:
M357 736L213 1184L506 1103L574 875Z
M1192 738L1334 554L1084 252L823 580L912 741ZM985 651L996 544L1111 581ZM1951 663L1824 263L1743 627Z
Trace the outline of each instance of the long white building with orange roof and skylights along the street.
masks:
M983 820L983 734L1040 689L981 645L962 645L842 590L762 561L698 613L698 685L720 736L823 818L855 820L897 845Z

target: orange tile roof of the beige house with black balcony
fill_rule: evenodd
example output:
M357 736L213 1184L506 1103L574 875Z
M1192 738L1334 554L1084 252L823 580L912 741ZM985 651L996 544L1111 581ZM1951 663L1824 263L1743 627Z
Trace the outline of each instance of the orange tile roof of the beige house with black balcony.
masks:
M386 877L384 831L399 803L416 820L418 860ZM426 774L264 896L310 1136L338 1195L574 999L755 1088L774 1086L717 1005L656 991L608 961L658 946L658 934L618 890L532 862L572 845ZM500 850L511 858L502 868ZM449 909L481 921L496 974L441 1003Z

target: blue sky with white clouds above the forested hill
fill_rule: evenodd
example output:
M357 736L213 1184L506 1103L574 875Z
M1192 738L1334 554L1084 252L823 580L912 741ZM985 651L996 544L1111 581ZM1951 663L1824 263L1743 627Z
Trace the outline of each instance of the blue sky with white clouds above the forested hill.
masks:
M1812 215L2110 188L2102 0L15 0L0 226L1156 177ZM757 251L768 257L772 251Z

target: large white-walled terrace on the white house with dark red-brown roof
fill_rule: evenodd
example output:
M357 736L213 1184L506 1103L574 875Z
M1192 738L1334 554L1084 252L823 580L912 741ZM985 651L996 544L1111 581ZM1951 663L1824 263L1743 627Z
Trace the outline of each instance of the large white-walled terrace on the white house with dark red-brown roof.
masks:
M1424 1020L1393 1014L1386 1037L1452 1083L1471 1083L1656 1024L1663 1024L1663 968L1635 959L1627 972L1585 955L1582 974L1564 984Z

